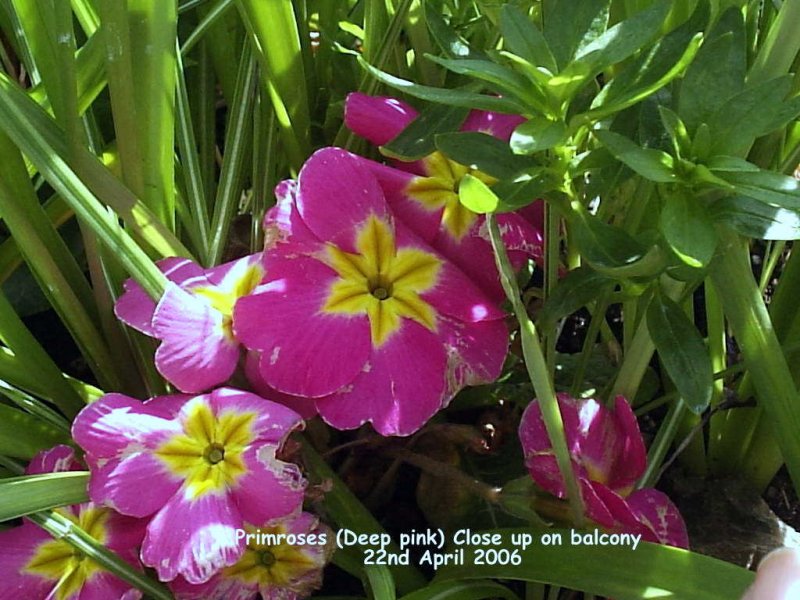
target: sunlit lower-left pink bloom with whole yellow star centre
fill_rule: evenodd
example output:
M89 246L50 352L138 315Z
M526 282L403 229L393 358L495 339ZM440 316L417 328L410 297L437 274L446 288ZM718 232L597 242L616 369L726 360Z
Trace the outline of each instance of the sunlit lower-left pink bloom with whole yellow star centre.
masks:
M301 425L285 406L221 388L144 403L107 394L78 414L72 434L86 451L90 498L150 518L142 562L162 581L203 583L241 558L245 522L300 510L305 480L277 454Z

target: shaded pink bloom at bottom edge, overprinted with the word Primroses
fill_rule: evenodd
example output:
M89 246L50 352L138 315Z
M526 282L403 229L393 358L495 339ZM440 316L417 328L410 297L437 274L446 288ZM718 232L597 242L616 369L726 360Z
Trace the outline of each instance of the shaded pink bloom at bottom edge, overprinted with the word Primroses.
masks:
M250 537L246 537L246 536ZM183 578L171 585L178 600L305 598L322 584L322 569L334 549L333 532L310 513L272 526L241 531L242 558L202 585Z

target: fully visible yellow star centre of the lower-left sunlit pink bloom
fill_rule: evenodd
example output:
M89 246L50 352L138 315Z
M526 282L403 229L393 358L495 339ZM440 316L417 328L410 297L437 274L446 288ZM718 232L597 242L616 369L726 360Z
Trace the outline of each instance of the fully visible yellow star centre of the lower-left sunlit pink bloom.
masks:
M242 454L253 441L252 412L224 411L215 417L202 400L194 400L183 429L156 448L172 473L186 480L190 500L230 489L245 472Z

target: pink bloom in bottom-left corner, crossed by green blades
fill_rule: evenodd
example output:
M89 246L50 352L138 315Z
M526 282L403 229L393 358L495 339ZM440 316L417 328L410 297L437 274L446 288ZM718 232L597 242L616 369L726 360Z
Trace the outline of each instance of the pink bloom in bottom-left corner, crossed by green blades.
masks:
M37 454L28 475L79 471L72 448L56 446ZM144 522L91 502L56 509L123 560L140 569L136 548ZM28 600L135 600L142 594L84 556L65 540L53 539L25 520L0 532L0 598Z

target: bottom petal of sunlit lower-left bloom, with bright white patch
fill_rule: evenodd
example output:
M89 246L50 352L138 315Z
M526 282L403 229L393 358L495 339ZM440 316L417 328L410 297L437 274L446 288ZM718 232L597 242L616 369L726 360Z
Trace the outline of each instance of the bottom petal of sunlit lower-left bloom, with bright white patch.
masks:
M241 557L236 541L240 527L242 517L227 495L206 494L190 501L178 493L148 525L142 562L161 581L180 574L189 583L203 583Z

